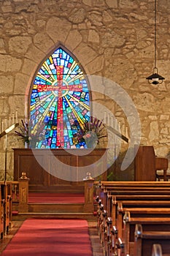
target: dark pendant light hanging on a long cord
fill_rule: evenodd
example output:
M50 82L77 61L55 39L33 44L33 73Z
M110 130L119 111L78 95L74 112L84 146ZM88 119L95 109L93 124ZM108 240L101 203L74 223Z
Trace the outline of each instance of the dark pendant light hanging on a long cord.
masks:
M152 83L154 85L157 85L158 83L163 83L163 78L161 75L158 74L158 67L156 67L156 36L157 36L157 27L156 27L156 21L157 21L157 0L155 0L155 67L153 68L152 75L147 77L149 83Z

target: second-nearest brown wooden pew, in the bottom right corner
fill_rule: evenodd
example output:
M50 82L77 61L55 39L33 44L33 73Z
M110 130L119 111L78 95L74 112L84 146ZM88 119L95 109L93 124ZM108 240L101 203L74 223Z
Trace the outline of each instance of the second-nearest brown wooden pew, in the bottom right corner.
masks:
M152 245L161 244L163 254L169 254L170 232L143 231L142 225L136 224L134 238L134 255L152 255Z

